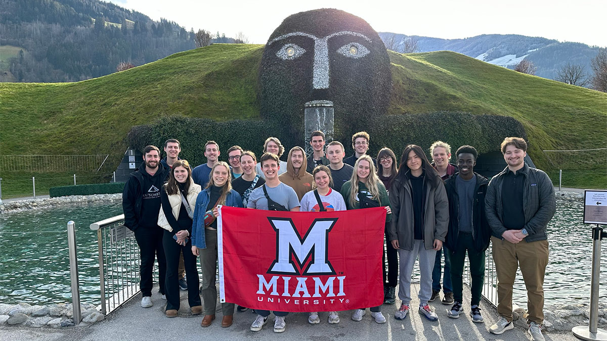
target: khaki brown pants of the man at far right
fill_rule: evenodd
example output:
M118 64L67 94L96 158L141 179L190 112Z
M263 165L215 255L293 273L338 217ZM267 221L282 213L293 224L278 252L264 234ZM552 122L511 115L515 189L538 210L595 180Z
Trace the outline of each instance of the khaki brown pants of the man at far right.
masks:
M548 240L512 244L491 237L493 262L497 271L497 312L512 321L512 286L520 266L527 288L527 323L544 322L544 274L548 265Z

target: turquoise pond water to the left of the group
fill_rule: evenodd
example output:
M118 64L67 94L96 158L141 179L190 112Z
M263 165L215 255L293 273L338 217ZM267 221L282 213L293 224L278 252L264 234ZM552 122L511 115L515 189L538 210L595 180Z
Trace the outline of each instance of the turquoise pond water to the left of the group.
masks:
M70 302L67 221L73 220L80 299L100 303L97 232L89 225L118 214L120 203L0 214L0 302Z

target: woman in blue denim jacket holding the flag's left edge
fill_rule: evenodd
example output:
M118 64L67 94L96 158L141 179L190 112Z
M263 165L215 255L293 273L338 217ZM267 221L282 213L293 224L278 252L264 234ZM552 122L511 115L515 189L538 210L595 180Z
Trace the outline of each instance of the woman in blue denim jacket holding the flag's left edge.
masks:
M224 161L215 163L211 169L211 178L206 188L198 194L192 226L192 253L200 255L202 268L202 299L205 303L205 317L200 323L203 327L211 325L215 319L217 305L217 205L242 208L240 194L232 189L229 166ZM234 303L222 303L222 328L232 325Z

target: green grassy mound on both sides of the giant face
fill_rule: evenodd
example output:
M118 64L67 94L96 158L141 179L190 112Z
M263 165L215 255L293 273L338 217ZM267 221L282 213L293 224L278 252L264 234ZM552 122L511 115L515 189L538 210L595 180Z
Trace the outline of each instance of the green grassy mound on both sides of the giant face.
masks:
M0 155L110 154L100 170L107 174L120 162L132 126L172 115L219 121L257 118L262 53L260 45L215 44L78 83L2 83ZM523 123L529 154L539 167L549 166L543 149L607 145L605 93L455 52L389 55L389 114L456 111L514 117ZM604 163L597 160L594 165ZM601 186L607 186L605 169L598 171L603 172ZM592 183L582 178L577 185Z

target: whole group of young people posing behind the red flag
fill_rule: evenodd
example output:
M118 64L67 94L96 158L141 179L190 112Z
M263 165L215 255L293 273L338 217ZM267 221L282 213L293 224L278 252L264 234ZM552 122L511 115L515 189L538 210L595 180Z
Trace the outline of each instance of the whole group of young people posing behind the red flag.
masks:
M530 291L529 333L534 340L543 339L540 329L543 322L542 285L548 262L545 229L554 214L554 202L552 208L549 203L554 201L554 190L552 186L546 189L545 178L548 177L545 173L524 164L525 141L521 138L506 138L503 141L501 150L508 166L490 183L473 171L478 153L472 146L459 147L455 153L456 165L453 165L449 163L450 147L446 143L437 141L430 148L433 163L427 160L421 147L410 144L402 151L398 163L395 153L389 148L379 150L377 159L367 155L369 140L368 133L355 133L352 137L354 154L344 158L344 146L339 141L332 141L325 149L324 133L317 131L311 134L313 153L310 157L306 156L302 147L296 146L290 150L285 162L280 160L284 152L280 140L270 137L264 143L264 153L259 163L253 152L233 146L228 149L229 164L219 161L219 145L208 141L205 145L207 163L194 169L188 161L178 158L178 151L172 152L180 150L177 140L166 141L164 150L167 157L162 162L160 150L147 146L143 150L144 163L131 175L123 194L125 225L134 231L141 249L141 306L152 306L155 256L158 260L160 293L167 300L165 314L167 317L177 316L180 301L178 273L182 255L192 314L204 311L201 325L211 325L217 304L215 218L218 216L218 205L313 212L384 207L387 211L384 303L395 303L398 282L401 305L394 314L395 319L405 319L410 311L413 266L419 259L421 282L418 311L430 321L438 320L428 302L438 296L438 291L433 289L433 272L436 272L435 260L440 262L437 252L444 250L446 261L450 261L450 269L445 269L444 279L446 282L448 277L452 282L452 301L447 293L443 299L443 303L452 304L447 316L458 318L464 311L462 274L467 253L472 276L469 312L473 322L483 322L479 305L484 280L484 257L493 234L500 300L498 312L501 318L489 331L501 334L513 328L512 285L520 260L518 253L526 252L525 262L535 264L533 269L531 266L523 269L523 260L520 260L526 284L527 277L532 277L531 271L541 272L541 280L538 278L540 274L533 274L537 280L531 289L527 285ZM492 186L496 181L500 182L499 188ZM527 186L529 181L535 181L531 184L531 194ZM504 186L509 187L502 188L503 182L506 183ZM512 208L512 200L520 204ZM542 211L541 217L538 217L537 211ZM530 245L534 244L530 241L541 241L542 250L545 246L545 257L543 251L530 255L532 252L529 250L535 246L521 247L518 243L523 239ZM501 251L496 252L496 244L500 245ZM496 254L499 254L499 260ZM204 307L198 295L198 256L202 268L200 290ZM436 275L434 277L436 279ZM538 302L540 298L541 302ZM222 327L232 325L234 308L233 303L222 303ZM246 309L239 306L241 311ZM375 322L386 322L381 305L371 307L370 311ZM257 317L251 330L259 331L268 321L270 311L256 309L255 312ZM273 313L274 331L285 331L288 312ZM365 313L364 307L355 309L351 319L360 321ZM319 323L319 313L310 312L308 322ZM336 311L328 312L328 323L339 323Z

